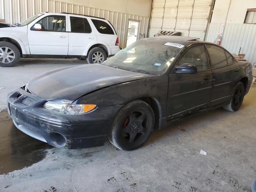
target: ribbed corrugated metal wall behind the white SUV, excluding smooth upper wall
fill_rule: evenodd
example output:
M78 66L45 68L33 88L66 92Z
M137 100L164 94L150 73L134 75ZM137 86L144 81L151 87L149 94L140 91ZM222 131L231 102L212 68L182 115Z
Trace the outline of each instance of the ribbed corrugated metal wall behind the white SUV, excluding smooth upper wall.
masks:
M122 48L126 46L129 19L140 21L138 40L147 36L148 17L91 8L56 0L0 0L0 19L4 19L7 23L21 22L40 12L69 12L106 18L116 29L119 36L119 44Z

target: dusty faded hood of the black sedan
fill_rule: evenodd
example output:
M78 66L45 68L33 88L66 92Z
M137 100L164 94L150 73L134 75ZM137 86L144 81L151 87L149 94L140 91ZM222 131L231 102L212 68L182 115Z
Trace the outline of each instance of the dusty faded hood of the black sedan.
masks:
M58 68L36 76L28 84L33 94L47 101L74 102L81 96L108 86L152 77L102 64Z

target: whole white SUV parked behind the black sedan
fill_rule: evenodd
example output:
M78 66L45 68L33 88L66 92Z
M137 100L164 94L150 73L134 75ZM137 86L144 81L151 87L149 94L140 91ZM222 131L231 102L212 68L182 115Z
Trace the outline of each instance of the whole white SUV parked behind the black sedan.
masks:
M0 23L0 66L23 58L78 58L102 63L120 48L116 31L104 18L41 13L14 25Z

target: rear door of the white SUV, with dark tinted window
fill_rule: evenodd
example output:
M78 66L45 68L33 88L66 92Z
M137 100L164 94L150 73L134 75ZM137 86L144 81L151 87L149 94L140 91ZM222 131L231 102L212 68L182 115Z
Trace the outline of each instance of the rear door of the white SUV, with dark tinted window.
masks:
M88 49L97 43L97 36L84 16L68 16L69 18L69 48L68 54L86 56Z

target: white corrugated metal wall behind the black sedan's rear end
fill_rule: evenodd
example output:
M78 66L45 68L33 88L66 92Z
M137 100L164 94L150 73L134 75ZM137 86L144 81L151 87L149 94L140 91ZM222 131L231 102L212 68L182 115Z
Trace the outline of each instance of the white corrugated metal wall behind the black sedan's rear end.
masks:
M210 23L206 41L214 42L220 34L222 25ZM256 62L256 25L255 24L226 24L221 45L231 53L242 54L252 64Z

